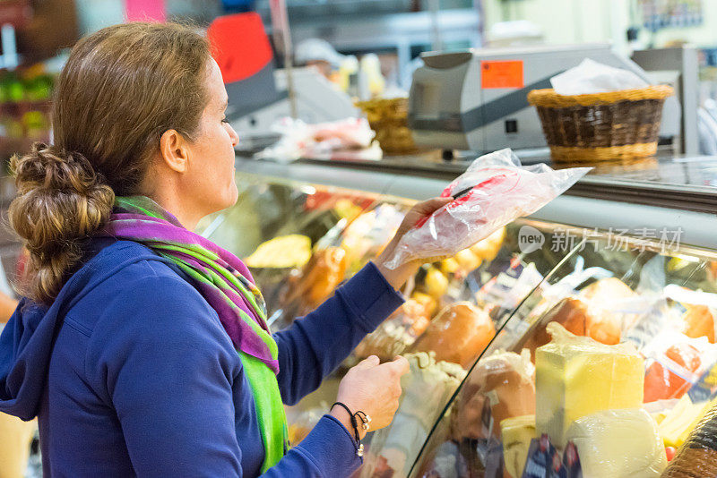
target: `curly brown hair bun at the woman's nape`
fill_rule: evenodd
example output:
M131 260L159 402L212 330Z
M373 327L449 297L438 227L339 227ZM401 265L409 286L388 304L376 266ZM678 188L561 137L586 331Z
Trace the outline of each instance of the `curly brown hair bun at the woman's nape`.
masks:
M18 190L10 223L25 240L35 277L23 293L47 303L64 283L59 272L72 269L82 243L107 223L115 193L82 154L45 143L33 144L10 165Z

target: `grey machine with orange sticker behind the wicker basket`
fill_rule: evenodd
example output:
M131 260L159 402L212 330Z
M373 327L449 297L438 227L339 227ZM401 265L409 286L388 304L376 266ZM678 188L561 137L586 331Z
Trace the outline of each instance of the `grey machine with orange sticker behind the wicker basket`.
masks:
M409 127L427 148L492 151L546 146L540 119L528 104L530 90L550 88L550 78L585 58L624 68L649 81L644 71L609 45L471 49L421 55L413 75ZM661 136L680 134L680 105L668 98Z

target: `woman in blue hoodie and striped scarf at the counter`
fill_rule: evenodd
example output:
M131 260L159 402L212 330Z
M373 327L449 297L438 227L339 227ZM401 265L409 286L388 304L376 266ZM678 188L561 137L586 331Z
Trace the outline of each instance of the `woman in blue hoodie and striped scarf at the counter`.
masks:
M25 295L0 337L0 411L39 417L46 476L348 476L390 423L405 359L370 357L288 448L296 403L402 303L417 264L384 254L271 336L236 257L191 231L237 201L236 132L206 40L185 27L108 27L73 47L54 146L13 158ZM367 417L372 418L368 422Z

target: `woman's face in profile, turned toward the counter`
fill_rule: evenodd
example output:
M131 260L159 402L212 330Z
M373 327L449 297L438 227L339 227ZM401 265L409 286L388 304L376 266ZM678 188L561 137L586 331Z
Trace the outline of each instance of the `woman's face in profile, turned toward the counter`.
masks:
M234 147L237 132L226 122L227 90L219 65L213 59L205 78L209 102L204 108L196 141L190 145L185 184L186 197L194 202L199 217L229 208L237 202L234 181Z

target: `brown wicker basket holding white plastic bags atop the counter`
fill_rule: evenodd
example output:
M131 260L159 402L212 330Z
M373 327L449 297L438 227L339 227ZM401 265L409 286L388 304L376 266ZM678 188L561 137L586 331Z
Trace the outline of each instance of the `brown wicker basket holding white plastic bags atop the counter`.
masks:
M674 93L666 85L590 95L564 96L532 90L553 161L587 164L647 158L657 151L662 104Z

